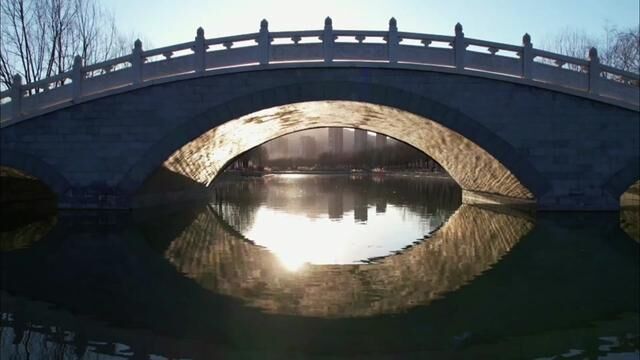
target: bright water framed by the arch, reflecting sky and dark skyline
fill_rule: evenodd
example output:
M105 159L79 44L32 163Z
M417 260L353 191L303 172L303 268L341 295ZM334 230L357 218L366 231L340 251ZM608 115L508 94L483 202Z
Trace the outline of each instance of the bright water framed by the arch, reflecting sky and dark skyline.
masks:
M214 211L290 269L352 264L421 240L459 206L450 179L269 175L216 182Z

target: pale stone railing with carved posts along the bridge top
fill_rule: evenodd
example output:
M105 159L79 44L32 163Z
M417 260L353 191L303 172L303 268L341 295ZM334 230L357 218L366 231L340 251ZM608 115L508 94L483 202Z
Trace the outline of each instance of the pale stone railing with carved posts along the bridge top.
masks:
M376 66L423 69L498 78L551 88L638 110L638 74L600 64L595 48L588 59L534 49L525 34L522 45L467 38L456 24L455 35L398 31L334 30L326 18L323 30L269 32L263 20L253 34L205 39L199 28L194 41L143 50L136 40L130 55L82 66L77 56L71 71L13 86L0 93L3 125L82 101L133 88L204 74L256 68L302 66Z

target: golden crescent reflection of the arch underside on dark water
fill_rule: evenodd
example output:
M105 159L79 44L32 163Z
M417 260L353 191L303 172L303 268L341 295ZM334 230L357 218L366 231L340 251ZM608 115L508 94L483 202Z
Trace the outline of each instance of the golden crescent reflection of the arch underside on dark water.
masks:
M349 317L426 305L489 269L533 228L530 219L462 205L430 238L373 264L286 269L203 208L165 252L204 288L270 313Z

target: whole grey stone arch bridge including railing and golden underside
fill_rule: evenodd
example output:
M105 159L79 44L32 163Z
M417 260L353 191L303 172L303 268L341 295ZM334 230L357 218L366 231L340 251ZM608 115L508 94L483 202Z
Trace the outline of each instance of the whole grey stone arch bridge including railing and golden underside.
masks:
M466 198L615 210L640 177L638 75L522 45L386 31L270 32L143 50L1 94L0 165L63 208L132 208L166 169L208 185L236 156L307 128L424 151Z

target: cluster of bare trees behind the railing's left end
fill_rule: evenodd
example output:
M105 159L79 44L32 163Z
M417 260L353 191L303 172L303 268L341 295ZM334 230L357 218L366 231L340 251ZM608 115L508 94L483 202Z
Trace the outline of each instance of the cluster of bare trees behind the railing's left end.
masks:
M90 0L0 1L0 87L19 74L29 83L128 52L111 13Z

